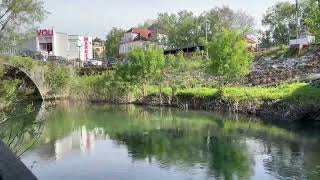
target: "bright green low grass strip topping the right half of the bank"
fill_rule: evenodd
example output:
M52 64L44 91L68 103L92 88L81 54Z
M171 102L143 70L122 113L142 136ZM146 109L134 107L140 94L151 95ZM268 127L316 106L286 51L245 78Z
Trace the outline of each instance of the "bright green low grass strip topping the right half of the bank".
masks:
M171 88L163 88L164 95L172 95ZM147 95L159 95L159 87L149 86ZM176 95L196 98L219 96L216 88L179 88ZM226 87L221 93L223 98L233 101L279 101L288 100L300 104L320 104L320 88L308 83L283 84L276 87Z

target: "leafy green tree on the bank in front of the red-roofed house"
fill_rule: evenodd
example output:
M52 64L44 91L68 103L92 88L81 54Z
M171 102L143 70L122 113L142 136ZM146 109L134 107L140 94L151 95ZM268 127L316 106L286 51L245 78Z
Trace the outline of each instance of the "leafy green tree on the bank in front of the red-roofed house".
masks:
M128 55L128 64L117 67L116 76L125 82L141 84L143 96L148 81L162 72L164 67L164 55L161 49L147 47L134 48Z

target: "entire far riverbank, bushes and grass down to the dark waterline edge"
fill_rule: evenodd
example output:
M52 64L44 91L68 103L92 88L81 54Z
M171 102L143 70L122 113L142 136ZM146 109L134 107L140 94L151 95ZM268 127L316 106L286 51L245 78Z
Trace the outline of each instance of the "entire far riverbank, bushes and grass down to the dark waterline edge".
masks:
M142 85L126 83L112 71L79 75L78 69L27 58L11 58L38 81L45 100L68 99L111 104L172 106L183 109L224 111L256 115L276 121L320 120L320 88L317 83L295 82L270 86L230 85L219 91L214 79L193 78L203 61L184 62L183 71L168 69L170 78ZM201 80L201 81L200 81ZM24 83L23 83L24 84ZM144 91L144 92L143 92Z

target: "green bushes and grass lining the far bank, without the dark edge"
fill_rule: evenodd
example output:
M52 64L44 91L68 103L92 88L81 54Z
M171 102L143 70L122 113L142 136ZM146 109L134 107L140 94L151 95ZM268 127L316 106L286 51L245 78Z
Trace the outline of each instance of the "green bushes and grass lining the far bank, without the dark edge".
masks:
M196 80L190 73L203 71L206 61L198 58L189 62L184 56L168 56L165 68L157 76L144 78L143 93L139 83L123 81L117 72L99 75L77 75L77 70L71 67L52 65L33 61L28 58L13 58L11 62L30 69L42 68L46 84L57 96L79 100L134 102L144 96L167 97L183 96L190 98L220 97L231 101L279 101L287 100L299 104L320 104L320 89L307 83L284 84L275 87L225 87L218 90L213 82L205 83ZM137 71L138 72L138 71ZM158 76L160 74L160 76ZM178 76L183 74L183 76ZM144 76L146 77L146 76Z

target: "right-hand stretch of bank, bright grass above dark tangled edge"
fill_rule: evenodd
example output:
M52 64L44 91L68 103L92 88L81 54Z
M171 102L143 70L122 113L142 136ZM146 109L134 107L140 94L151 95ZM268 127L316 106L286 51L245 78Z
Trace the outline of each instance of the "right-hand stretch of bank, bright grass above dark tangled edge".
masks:
M274 121L320 121L320 89L307 83L277 87L227 87L180 90L176 95L152 92L139 105L255 115Z

